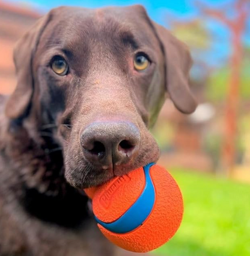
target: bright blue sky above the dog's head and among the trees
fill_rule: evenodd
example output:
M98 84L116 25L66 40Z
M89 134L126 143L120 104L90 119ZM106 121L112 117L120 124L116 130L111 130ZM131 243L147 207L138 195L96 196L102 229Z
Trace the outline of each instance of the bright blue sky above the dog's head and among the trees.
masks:
M175 17L175 19L192 19L197 16L198 8L195 6L194 0L5 0L15 4L29 5L38 11L46 13L53 7L60 5L76 5L88 8L98 8L107 5L132 5L142 4L147 9L151 19L165 25L168 15ZM224 4L236 0L200 0L210 5L213 8L220 8ZM231 54L230 33L224 25L215 20L207 20L207 28L216 35L213 40L210 52L207 54L207 61L211 66L221 66ZM170 28L171 30L171 28ZM243 40L250 48L250 17L248 20L248 33L245 34Z

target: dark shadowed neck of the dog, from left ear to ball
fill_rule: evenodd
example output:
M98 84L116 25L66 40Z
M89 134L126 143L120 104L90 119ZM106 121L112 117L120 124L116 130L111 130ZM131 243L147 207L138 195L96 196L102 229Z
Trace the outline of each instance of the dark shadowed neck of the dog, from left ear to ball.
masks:
M88 215L88 199L66 182L62 151L53 150L59 148L58 143L34 129L18 120L5 120L0 129L5 142L1 155L18 175L17 184L11 187L32 216L70 228L78 226Z

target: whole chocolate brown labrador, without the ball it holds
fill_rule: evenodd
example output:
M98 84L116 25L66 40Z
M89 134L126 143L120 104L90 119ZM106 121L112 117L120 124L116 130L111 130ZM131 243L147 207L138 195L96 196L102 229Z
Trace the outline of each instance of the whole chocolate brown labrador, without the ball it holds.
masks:
M140 5L59 7L14 49L0 96L0 255L111 256L82 189L156 162L150 128L169 96L183 113L188 48Z

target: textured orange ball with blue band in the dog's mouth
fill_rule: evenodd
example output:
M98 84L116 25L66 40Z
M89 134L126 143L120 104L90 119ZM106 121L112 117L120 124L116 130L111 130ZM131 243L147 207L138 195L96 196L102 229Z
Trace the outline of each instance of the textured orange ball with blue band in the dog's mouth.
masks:
M177 183L154 163L85 192L102 233L128 251L148 252L168 242L183 217Z

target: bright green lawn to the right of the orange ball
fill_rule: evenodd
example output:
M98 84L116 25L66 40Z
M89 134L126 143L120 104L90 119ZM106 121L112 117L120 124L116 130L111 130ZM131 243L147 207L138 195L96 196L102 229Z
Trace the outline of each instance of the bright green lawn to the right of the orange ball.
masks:
M184 198L175 236L154 255L249 256L250 186L174 170Z

